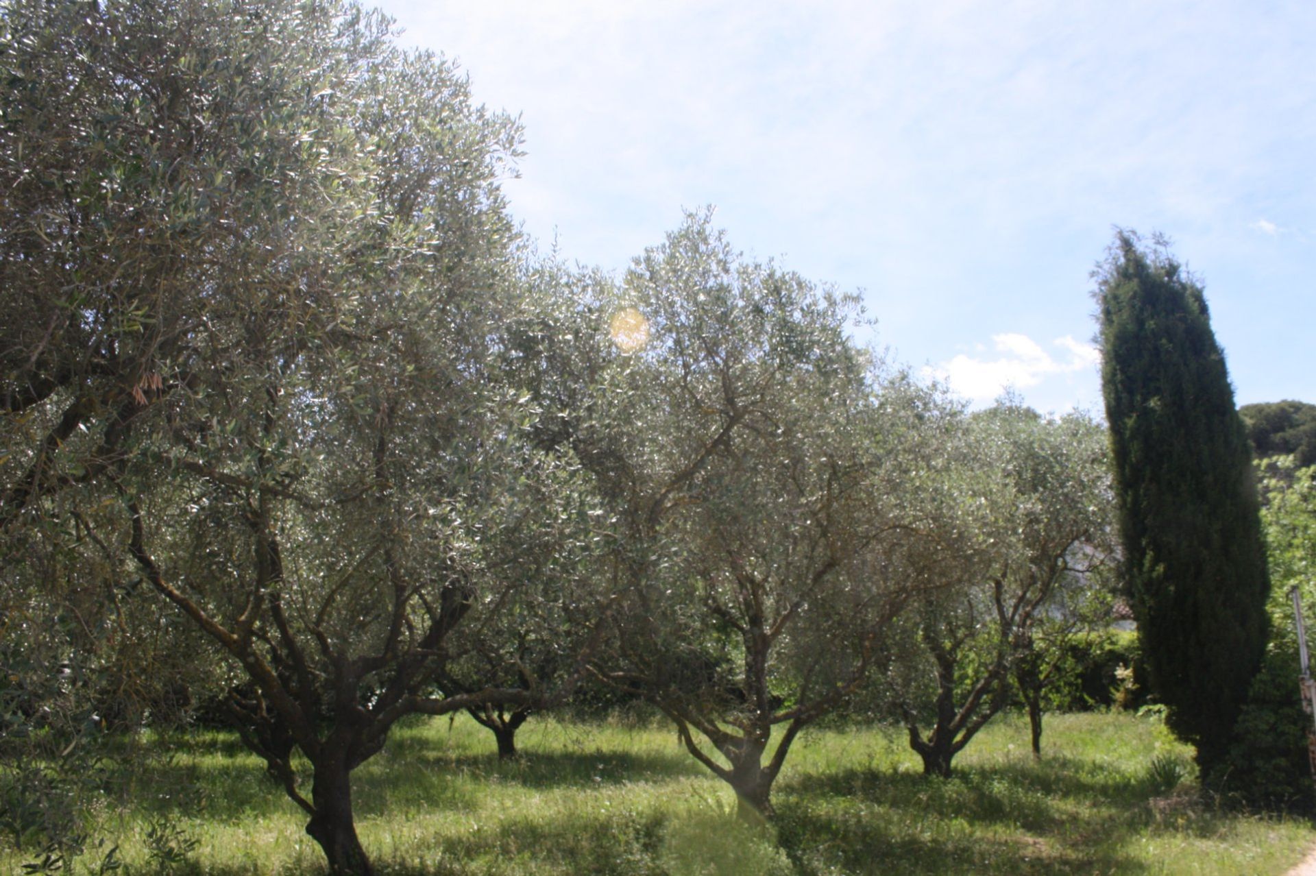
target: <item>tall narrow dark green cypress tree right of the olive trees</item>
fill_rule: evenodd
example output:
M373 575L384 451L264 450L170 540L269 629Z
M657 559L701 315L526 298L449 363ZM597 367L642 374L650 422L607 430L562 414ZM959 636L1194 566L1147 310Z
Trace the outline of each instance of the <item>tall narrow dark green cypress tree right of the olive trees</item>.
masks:
M1252 452L1202 285L1165 241L1119 231L1095 278L1128 595L1153 692L1205 776L1270 631Z

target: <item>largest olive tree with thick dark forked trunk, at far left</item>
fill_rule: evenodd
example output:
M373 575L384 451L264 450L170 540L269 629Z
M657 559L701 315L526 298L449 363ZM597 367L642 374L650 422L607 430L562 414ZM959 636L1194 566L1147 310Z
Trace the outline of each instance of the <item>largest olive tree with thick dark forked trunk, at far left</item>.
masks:
M571 466L488 366L517 128L343 3L3 26L5 543L95 508L246 677L243 739L330 871L367 873L350 773L390 727L538 696L433 694L524 592L484 534Z

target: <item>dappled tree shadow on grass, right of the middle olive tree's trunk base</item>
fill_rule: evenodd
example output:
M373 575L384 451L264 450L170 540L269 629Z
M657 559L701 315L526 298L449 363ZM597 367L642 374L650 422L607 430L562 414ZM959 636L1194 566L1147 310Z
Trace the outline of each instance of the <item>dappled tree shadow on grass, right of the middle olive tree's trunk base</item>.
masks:
M965 766L950 779L799 776L783 784L779 810L797 863L816 852L857 873L1138 873L1146 865L1121 850L1154 827L1145 785L1062 759Z

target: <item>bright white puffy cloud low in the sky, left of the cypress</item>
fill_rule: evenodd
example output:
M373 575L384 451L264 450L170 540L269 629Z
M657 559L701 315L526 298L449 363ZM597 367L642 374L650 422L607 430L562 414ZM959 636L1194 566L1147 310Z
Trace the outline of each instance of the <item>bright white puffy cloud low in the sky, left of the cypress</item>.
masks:
M1096 347L1070 335L1051 342L1067 354L1059 358L1025 334L995 334L992 346L999 354L995 358L959 354L924 371L974 404L987 404L1008 388L1036 387L1051 376L1091 371L1101 359Z

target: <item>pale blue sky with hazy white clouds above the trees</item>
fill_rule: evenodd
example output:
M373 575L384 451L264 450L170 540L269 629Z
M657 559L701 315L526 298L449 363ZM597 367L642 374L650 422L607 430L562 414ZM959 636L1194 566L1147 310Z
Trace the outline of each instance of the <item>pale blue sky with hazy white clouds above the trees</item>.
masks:
M520 114L512 209L620 270L712 204L975 404L1100 409L1092 266L1159 230L1240 404L1316 402L1316 4L390 0Z

